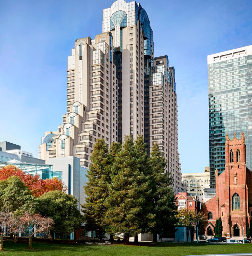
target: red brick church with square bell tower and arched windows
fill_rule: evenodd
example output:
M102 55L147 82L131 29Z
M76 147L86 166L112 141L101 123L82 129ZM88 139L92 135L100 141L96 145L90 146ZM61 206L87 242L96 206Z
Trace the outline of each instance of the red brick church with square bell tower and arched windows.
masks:
M216 196L202 201L205 215L204 235L215 235L216 219L222 220L222 236L227 238L242 236L243 228L246 237L246 224L252 221L252 172L246 168L245 136L230 140L226 134L225 171L218 175L215 171Z

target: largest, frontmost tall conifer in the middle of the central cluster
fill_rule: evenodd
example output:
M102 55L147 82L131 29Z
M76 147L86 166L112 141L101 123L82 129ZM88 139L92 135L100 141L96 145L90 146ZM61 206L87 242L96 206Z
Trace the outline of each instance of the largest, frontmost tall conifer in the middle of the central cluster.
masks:
M108 232L124 233L124 243L128 243L130 236L156 224L149 201L152 190L147 176L147 152L141 135L135 144L133 136L124 137L111 173L105 214L106 222L110 223Z

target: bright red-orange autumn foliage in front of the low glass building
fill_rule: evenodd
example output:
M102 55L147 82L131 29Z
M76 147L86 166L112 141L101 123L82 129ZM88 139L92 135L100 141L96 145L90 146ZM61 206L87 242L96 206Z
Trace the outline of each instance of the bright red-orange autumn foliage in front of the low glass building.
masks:
M66 192L67 187L58 178L42 179L38 174L25 174L14 165L7 165L0 169L0 180L6 180L11 176L20 177L21 181L31 190L32 195L39 197L46 192L59 190Z

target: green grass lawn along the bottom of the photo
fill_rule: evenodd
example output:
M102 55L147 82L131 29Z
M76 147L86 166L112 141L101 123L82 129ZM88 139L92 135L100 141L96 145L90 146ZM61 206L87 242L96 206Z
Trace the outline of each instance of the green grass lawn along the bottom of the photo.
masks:
M0 256L178 256L217 253L252 253L252 244L182 244L158 243L140 245L59 245L33 243L33 248L26 249L28 244L12 241L4 242Z

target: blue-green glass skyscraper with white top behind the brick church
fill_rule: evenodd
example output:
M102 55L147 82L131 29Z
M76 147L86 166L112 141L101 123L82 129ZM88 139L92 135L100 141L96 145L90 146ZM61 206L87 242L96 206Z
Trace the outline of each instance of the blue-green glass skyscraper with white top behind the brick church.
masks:
M246 142L246 165L252 169L252 45L207 57L210 188L215 169L225 170L225 135Z

